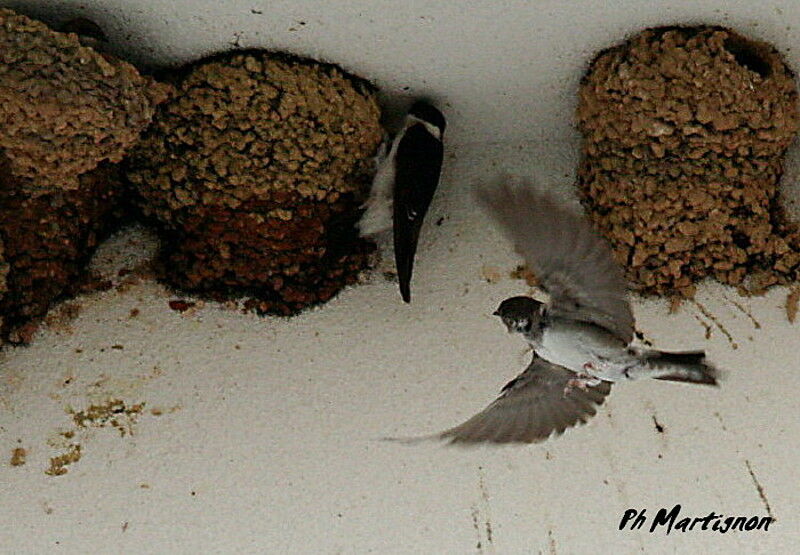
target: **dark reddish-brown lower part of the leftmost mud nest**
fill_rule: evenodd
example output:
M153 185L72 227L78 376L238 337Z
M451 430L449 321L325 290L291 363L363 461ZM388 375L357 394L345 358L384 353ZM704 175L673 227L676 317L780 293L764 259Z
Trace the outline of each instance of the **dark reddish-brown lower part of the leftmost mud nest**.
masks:
M124 188L119 167L104 162L79 176L74 189L34 196L2 158L0 256L7 275L0 290L0 341L28 343L53 301L86 283L95 247L121 219Z

